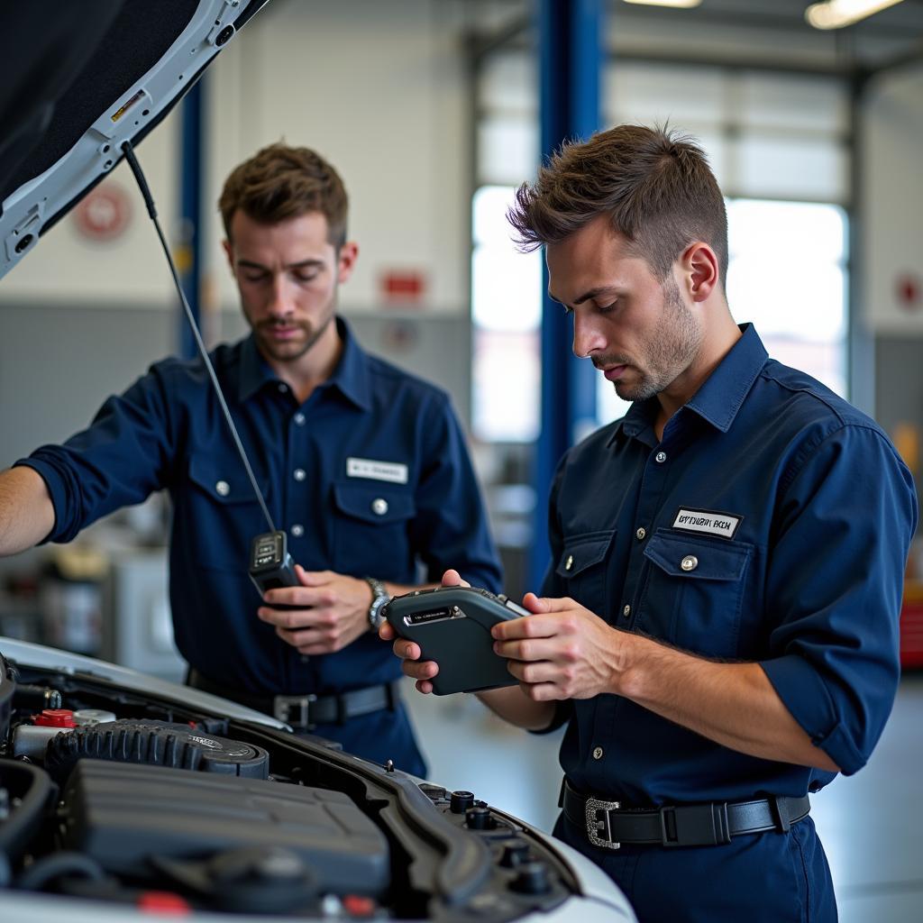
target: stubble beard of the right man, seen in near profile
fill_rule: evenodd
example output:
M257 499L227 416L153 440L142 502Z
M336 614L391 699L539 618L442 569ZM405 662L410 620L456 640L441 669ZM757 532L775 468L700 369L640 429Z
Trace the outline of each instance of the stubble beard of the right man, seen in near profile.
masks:
M664 311L660 322L640 347L646 369L632 366L641 374L635 382L613 382L623 401L647 401L668 388L689 368L701 347L701 329L679 294L677 283L667 279L663 291ZM617 364L618 360L607 361Z

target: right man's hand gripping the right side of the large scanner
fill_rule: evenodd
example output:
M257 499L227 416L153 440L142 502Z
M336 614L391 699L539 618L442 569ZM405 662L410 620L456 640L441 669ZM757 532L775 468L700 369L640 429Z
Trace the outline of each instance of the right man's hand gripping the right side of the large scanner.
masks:
M574 600L526 593L532 616L491 629L494 650L509 659L509 672L533 701L592 699L614 692L622 644L616 629Z

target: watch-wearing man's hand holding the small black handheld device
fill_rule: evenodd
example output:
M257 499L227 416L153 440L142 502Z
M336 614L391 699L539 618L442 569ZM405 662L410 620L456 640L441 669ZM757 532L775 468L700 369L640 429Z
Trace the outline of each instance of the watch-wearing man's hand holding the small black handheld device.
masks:
M332 570L306 570L294 566L300 586L268 590L257 615L298 653L342 651L368 630L372 588L364 580ZM274 609L272 604L296 605L297 609Z

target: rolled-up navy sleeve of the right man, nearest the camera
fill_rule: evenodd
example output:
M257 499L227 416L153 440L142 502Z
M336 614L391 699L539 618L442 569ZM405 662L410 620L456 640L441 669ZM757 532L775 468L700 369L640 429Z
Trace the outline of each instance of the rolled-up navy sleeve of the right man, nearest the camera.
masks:
M917 528L913 478L871 426L803 450L780 485L761 662L795 720L843 773L868 761L900 677L904 569Z

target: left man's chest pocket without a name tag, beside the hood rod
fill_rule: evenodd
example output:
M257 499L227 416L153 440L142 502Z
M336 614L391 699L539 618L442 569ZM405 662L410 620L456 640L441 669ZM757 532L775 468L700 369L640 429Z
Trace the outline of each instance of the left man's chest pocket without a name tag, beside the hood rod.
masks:
M258 486L267 497L268 485L258 482ZM181 520L177 529L198 536L201 563L225 570L246 570L250 542L270 528L236 457L219 463L193 456L188 468L188 494L175 505L174 516Z

